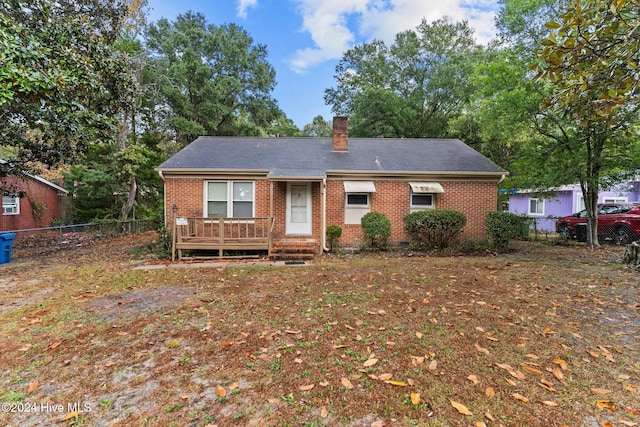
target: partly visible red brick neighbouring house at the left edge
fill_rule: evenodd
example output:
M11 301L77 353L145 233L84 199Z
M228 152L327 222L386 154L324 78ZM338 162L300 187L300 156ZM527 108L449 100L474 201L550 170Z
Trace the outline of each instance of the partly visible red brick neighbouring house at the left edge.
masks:
M5 189L0 232L50 227L53 220L65 216L69 192L40 176L0 178L0 188Z

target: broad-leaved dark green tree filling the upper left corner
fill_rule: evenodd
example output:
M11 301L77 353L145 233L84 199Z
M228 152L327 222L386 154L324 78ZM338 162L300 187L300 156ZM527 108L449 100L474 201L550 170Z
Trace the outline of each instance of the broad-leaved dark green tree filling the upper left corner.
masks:
M0 2L0 177L57 166L114 135L131 79L121 1Z

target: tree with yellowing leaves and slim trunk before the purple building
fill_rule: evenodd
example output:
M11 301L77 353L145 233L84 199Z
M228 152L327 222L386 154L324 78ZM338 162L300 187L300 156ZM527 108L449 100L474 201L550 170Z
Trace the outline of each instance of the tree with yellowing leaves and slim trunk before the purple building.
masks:
M579 163L590 240L597 244L598 189L603 168L615 159L635 167L632 126L640 108L640 3L636 0L569 0L542 40L538 77L554 85L545 107L574 126L563 147ZM577 157L576 157L577 156Z

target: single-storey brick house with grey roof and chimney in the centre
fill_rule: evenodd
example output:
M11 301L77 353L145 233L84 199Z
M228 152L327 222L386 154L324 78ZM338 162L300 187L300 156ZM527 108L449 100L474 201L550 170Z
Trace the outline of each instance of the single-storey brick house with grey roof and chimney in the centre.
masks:
M433 208L462 212L462 238L483 240L507 174L456 139L349 139L345 117L334 118L332 138L200 137L157 171L168 227L187 217L270 218L272 257L287 245L321 253L329 225L342 227L342 247L359 247L371 211L390 219L391 244L409 241L405 215Z

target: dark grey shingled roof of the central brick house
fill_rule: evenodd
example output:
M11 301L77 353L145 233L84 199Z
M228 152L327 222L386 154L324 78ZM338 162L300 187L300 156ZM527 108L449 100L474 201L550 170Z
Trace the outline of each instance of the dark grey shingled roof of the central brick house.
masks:
M161 173L242 173L321 178L331 174L486 175L507 172L457 139L200 137L157 170Z

